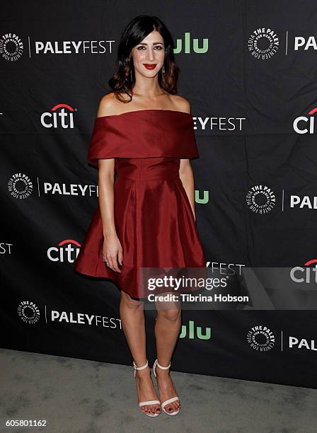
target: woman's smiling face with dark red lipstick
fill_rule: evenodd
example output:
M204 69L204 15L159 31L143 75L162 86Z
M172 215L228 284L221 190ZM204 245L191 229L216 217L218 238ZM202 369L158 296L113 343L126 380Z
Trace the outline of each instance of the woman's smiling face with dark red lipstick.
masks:
M156 76L163 67L164 55L163 37L158 31L153 30L144 37L144 40L132 48L134 69L147 77ZM149 65L152 65L151 69L146 68Z

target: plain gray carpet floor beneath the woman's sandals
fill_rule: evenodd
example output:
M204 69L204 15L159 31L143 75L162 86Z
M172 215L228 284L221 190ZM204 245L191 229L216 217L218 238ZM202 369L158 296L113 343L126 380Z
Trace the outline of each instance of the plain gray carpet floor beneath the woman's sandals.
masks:
M180 413L150 418L137 406L132 366L0 349L0 431L317 432L317 390L177 371L172 376ZM5 427L8 419L47 420L47 427Z

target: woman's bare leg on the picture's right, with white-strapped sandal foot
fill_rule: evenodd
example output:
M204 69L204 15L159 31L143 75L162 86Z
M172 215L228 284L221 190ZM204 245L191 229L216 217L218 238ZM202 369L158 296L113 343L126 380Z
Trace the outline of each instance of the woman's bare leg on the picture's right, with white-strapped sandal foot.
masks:
M156 337L157 360L161 366L168 366L182 326L181 302L157 301L156 310L157 317L154 333ZM156 366L156 380L159 386L161 403L168 398L178 395L169 369L163 370L159 366ZM166 405L165 410L173 412L178 410L179 407L180 403L176 400Z

